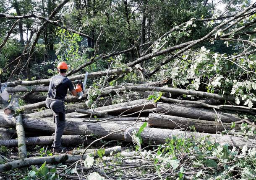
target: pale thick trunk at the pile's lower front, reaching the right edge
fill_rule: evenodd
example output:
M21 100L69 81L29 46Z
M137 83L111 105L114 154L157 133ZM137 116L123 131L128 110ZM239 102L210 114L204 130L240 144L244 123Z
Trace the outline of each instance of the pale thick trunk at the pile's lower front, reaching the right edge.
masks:
M132 138L130 134L134 130L138 131L138 127L129 127L125 130L125 141L132 142ZM153 144L162 144L166 142L167 138L172 138L173 136L178 138L195 138L200 139L202 137L207 137L206 139L219 143L221 145L232 145L234 144L235 147L243 147L247 145L248 147L256 147L256 141L253 139L245 139L243 137L235 137L235 136L228 136L222 134L209 134L209 133L201 133L201 132L185 132L173 129L157 129L157 128L149 128L146 127L144 131L141 133L141 138L144 143L153 143ZM230 140L232 139L232 142Z

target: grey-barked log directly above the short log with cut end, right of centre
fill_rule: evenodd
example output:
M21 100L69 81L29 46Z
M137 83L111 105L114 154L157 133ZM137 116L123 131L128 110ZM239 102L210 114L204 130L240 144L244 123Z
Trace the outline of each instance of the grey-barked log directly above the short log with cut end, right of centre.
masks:
M215 121L217 115L213 110L201 109L196 107L178 106L176 104L157 103L157 112L165 115L178 117L187 117L192 119L201 119ZM222 122L236 122L241 119L236 114L218 112Z

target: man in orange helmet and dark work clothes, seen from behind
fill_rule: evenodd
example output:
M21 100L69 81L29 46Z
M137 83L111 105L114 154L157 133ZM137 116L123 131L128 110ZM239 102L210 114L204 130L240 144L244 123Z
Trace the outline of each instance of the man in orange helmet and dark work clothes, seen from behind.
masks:
M46 106L54 112L53 121L55 122L55 134L52 144L53 152L62 152L66 148L61 146L61 137L65 128L65 96L68 89L73 96L78 96L70 79L65 77L68 70L68 65L65 62L60 62L57 66L58 75L53 76L50 81L49 90L46 99ZM82 93L82 92L81 92Z

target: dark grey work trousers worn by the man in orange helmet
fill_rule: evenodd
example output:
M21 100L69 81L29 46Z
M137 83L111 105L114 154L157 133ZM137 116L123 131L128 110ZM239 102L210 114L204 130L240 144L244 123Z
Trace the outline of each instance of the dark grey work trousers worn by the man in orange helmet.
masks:
M61 147L61 137L65 128L65 105L64 101L46 99L46 106L52 109L55 121L55 134L52 147Z

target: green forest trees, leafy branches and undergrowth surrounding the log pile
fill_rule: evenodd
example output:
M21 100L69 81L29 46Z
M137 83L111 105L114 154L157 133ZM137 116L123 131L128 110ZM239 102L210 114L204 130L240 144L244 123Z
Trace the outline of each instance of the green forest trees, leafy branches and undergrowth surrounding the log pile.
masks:
M170 83L164 86L166 88L220 95L221 104L224 104L220 106L233 111L231 108L235 106L235 111L243 112L239 114L241 119L253 121L251 124L243 122L238 136L255 138L255 116L252 115L256 102L255 23L256 3L253 0L2 0L0 82L1 86L8 86L10 92L18 92L14 96L20 97L19 105L24 106L32 103L32 98L26 95L33 93L33 88L31 92L31 86L21 91L19 88L23 87L17 85L49 79L57 74L56 65L60 61L68 63L68 76L122 69L125 73L106 79L102 76L88 79L86 108L94 107L103 84L105 87L126 87L128 83L167 80ZM33 96L45 97L46 94L40 91ZM189 93L172 96L159 91L153 91L150 98L158 101L164 95L176 98L175 101L199 99ZM112 97L118 97L112 101L118 104L130 101L131 97L144 96L125 88L121 95L116 93ZM1 109L8 103L1 99ZM235 126L232 123L231 128ZM134 145L140 153L143 149L140 134L145 127L144 124L135 133L137 142ZM196 129L192 126L188 131ZM229 133L234 134L235 130ZM154 145L155 154L149 151L144 156L150 157L152 166L146 167L147 162L145 167L136 169L135 176L179 180L256 178L255 147L233 145L232 148L205 138L174 137L167 139L164 145ZM7 152L4 147L0 148L0 153ZM183 152L194 156L183 162ZM52 155L45 153L42 154ZM102 157L102 152L98 155ZM120 163L123 160L120 158L123 157L115 157L113 163ZM105 165L102 159L90 163L95 163L95 170ZM64 174L58 168L61 167L44 163L38 168L17 173L10 171L9 174L17 179L59 179L60 175L61 178L72 175L80 179L79 175L74 176L78 172L73 166ZM113 173L110 169L105 170ZM112 178L130 179L131 172L117 171ZM90 172L83 173L80 175L89 179ZM98 178L108 177L104 173L101 175Z

